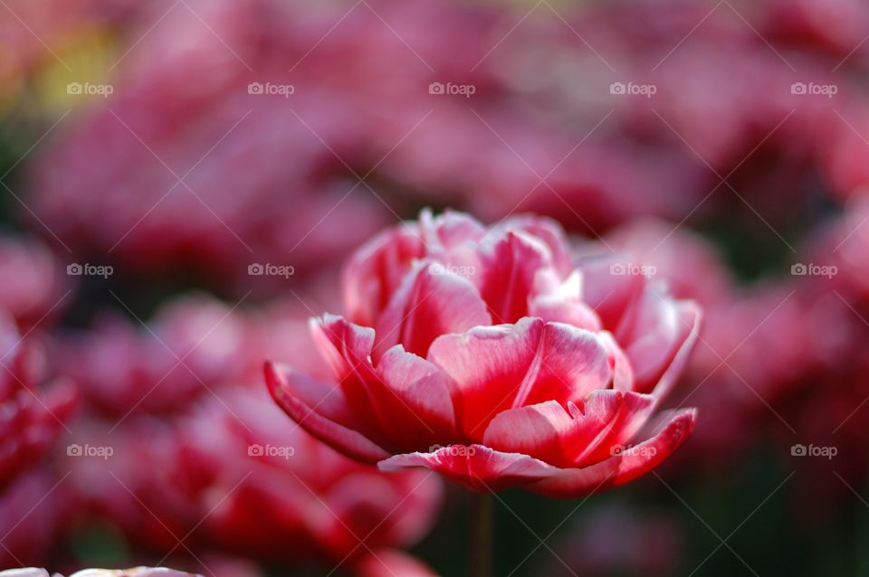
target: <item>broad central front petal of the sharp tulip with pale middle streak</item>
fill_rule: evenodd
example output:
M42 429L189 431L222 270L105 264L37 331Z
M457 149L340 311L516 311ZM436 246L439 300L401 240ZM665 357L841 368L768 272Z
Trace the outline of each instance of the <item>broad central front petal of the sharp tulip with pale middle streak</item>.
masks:
M539 318L440 336L428 358L451 377L459 429L475 440L498 412L577 402L611 378L608 352L594 333Z

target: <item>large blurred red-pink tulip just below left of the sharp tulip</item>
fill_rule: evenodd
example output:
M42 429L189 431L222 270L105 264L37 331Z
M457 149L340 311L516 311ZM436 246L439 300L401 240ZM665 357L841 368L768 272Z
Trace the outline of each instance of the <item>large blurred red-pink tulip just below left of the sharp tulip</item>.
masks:
M207 485L204 532L234 553L355 560L414 544L440 506L430 474L384 475L355 463L258 393L228 392L181 429L186 460Z

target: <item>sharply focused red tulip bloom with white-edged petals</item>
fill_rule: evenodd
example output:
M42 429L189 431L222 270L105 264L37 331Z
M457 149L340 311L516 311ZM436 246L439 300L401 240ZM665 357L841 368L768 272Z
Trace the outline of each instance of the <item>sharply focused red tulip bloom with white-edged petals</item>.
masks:
M692 430L691 409L649 422L700 315L616 255L576 262L546 220L424 212L350 261L347 318L312 319L338 383L266 364L272 396L380 468L560 497L625 483Z

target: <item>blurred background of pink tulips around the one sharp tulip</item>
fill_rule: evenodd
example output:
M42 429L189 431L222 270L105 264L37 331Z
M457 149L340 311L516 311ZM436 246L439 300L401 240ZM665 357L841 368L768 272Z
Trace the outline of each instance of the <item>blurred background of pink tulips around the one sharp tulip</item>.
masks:
M0 562L465 574L462 491L260 376L430 206L705 308L692 439L500 495L499 575L869 575L867 72L862 0L0 0Z

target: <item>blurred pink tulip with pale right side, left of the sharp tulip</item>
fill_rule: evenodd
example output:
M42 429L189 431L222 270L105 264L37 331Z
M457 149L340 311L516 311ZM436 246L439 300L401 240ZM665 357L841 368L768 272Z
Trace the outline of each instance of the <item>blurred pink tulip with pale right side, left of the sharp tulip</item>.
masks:
M243 314L199 294L168 301L145 325L103 316L60 339L55 355L107 415L171 412L215 383L253 374L248 336Z

